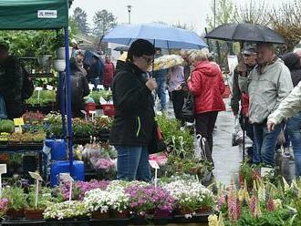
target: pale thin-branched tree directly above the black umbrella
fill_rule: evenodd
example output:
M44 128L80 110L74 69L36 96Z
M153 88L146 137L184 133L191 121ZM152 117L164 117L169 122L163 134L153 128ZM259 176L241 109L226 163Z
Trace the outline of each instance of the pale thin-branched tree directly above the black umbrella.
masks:
M269 20L269 8L262 0L260 4L250 0L244 5L235 5L234 21L236 23L249 23L254 25L267 26Z

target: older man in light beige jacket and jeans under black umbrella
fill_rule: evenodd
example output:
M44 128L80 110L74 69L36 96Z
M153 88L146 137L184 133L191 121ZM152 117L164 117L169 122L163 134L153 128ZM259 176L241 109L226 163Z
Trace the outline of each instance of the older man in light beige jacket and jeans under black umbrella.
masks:
M254 128L254 141L262 162L275 166L275 143L283 128L280 123L275 130L266 128L267 117L278 108L293 88L289 69L283 61L275 56L273 44L256 45L257 66L246 74L239 76L240 87L250 98L249 119Z

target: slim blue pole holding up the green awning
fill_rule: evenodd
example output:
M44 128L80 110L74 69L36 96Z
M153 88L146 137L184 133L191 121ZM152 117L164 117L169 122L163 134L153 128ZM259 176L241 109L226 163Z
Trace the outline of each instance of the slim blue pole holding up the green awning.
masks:
M66 89L67 89L67 147L69 150L70 175L73 175L73 145L72 145L72 108L71 108L71 79L70 79L70 61L69 61L69 41L68 30L65 31L65 56L66 56Z

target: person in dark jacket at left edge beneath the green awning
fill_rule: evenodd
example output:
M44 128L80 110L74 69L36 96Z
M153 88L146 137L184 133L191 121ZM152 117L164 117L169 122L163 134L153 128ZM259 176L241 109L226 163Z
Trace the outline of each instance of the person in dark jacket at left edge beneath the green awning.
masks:
M7 118L19 118L24 111L25 88L23 69L15 56L8 55L8 47L0 44L0 94L5 99ZM29 82L32 85L32 82ZM24 91L24 92L23 92ZM25 95L26 94L26 95Z

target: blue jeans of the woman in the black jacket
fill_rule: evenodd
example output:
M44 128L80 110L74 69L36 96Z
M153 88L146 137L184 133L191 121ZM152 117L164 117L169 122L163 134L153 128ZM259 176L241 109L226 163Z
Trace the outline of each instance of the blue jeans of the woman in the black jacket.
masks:
M117 146L117 179L150 181L149 150L146 146Z

